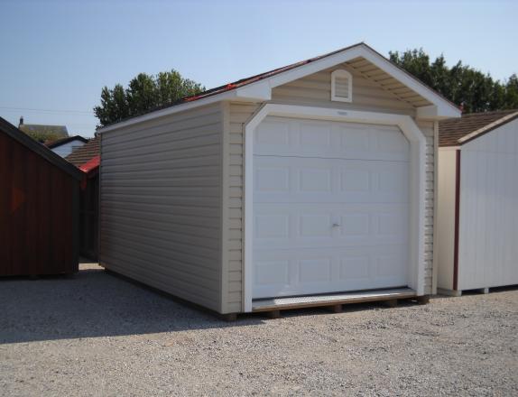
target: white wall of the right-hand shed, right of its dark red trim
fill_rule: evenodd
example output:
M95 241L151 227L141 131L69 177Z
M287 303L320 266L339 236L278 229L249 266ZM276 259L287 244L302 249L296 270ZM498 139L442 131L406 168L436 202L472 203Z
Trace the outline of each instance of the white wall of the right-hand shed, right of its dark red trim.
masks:
M458 290L518 284L518 120L462 145Z

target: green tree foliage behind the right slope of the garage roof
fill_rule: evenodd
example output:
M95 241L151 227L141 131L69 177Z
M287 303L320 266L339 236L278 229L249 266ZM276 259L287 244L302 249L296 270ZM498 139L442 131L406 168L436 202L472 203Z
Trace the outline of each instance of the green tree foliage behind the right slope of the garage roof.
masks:
M464 65L462 61L449 68L444 56L435 60L420 50L389 52L390 59L402 69L462 106L465 113L518 108L518 77L513 74L504 82Z

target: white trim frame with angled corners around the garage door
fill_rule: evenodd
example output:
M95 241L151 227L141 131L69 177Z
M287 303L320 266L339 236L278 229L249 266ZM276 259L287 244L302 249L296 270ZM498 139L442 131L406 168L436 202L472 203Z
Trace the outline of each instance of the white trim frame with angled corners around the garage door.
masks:
M392 115L326 107L264 105L245 125L245 221L243 310L252 311L254 242L254 130L268 115L374 125L396 125L410 142L410 266L409 287L424 294L424 217L426 139L410 115Z

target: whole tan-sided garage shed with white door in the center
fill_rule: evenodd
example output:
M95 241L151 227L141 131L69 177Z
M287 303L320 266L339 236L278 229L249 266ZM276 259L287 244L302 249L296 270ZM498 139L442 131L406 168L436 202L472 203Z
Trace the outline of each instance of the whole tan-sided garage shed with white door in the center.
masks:
M222 314L434 291L437 121L364 43L100 130L100 263Z

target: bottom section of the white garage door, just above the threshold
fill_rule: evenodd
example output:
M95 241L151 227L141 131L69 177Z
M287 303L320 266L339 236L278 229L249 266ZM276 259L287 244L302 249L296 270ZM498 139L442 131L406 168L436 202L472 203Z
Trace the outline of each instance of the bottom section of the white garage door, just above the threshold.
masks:
M264 251L254 266L254 298L401 287L407 284L405 254L395 245L341 248L332 253Z

